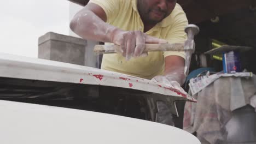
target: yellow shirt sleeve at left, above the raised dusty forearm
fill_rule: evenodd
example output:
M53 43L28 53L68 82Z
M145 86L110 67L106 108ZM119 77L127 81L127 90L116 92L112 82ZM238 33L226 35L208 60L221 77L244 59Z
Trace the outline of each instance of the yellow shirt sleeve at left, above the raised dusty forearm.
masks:
M100 6L106 13L107 22L113 21L119 14L121 0L90 0L89 3L94 3Z

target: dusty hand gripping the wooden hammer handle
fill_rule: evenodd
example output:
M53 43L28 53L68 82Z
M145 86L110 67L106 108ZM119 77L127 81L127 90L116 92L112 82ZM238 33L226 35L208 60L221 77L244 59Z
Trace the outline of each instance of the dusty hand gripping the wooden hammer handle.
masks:
M167 43L167 40L155 38L141 31L121 31L116 29L111 34L112 43L120 45L120 52L126 61L132 57L147 56L148 53L143 53L145 44L162 44Z

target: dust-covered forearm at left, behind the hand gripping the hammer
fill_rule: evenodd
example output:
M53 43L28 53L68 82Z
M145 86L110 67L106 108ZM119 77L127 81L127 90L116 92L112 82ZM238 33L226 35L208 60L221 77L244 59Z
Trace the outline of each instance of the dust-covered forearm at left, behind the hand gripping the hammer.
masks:
M77 13L70 23L70 28L84 39L113 43L111 33L118 28L108 25L91 10L82 10Z

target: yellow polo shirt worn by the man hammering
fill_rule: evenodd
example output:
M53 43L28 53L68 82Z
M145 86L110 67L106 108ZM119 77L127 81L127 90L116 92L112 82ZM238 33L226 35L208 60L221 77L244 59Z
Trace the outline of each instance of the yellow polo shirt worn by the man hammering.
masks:
M137 0L90 0L89 3L99 5L107 15L107 23L124 31L144 31L143 22L137 10ZM187 17L179 4L172 13L146 34L168 40L169 43L184 43L187 34ZM102 69L123 74L152 79L162 75L165 69L165 57L176 55L185 57L184 52L148 52L147 57L131 58L126 61L120 54L104 54Z

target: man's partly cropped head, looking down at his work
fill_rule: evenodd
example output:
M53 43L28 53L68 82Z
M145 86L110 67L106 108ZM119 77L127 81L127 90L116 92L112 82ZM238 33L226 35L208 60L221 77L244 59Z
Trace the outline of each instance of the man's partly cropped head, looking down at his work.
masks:
M137 0L143 22L158 23L172 13L177 0Z

